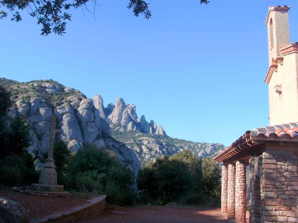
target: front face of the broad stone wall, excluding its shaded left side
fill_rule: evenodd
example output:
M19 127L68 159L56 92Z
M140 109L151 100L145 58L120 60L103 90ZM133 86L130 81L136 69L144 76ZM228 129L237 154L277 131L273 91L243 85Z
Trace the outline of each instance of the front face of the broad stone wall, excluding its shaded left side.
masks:
M293 151L266 150L261 166L262 222L298 222L298 159Z

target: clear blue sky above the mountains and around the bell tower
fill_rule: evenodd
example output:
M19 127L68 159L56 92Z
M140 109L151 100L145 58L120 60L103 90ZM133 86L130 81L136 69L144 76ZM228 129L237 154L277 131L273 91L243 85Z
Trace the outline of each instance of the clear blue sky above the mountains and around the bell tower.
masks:
M40 36L35 19L0 20L1 77L53 79L105 106L118 97L172 137L228 146L269 125L269 5L290 5L298 41L297 0L152 0L152 18L136 18L128 0L98 1L96 20L81 10L63 37ZM92 8L92 5L90 5Z

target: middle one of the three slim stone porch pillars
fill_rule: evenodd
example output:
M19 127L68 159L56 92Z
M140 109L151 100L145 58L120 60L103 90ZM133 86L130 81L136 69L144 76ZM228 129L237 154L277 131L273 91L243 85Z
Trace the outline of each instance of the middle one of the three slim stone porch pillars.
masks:
M235 219L235 166L231 164L227 170L227 218Z

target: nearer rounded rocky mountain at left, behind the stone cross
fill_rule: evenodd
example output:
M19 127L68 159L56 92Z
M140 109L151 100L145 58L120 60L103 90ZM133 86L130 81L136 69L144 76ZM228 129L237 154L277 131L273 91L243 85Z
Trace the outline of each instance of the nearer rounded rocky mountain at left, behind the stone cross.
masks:
M111 137L109 125L101 117L101 110L94 107L93 100L78 90L52 80L19 83L0 78L0 84L11 92L14 105L10 115L18 111L26 115L30 122L32 144L28 148L29 152L39 151L40 156L47 154L51 118L55 112L58 136L67 141L74 152L84 143L93 143L115 152L121 163L135 173L141 168L136 154L124 143Z

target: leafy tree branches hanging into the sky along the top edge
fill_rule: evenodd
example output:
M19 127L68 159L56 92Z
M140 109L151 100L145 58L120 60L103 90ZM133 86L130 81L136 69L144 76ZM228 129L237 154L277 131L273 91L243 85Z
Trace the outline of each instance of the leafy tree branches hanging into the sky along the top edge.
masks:
M200 0L201 4L207 4L208 0ZM88 0L60 0L60 1L48 1L48 0L0 0L0 5L6 7L12 14L11 21L19 22L22 17L16 9L26 9L32 17L37 18L37 24L42 25L41 35L49 35L54 32L58 35L63 35L66 30L67 21L71 21L71 14L68 10L72 8L85 7ZM94 7L97 5L96 0L93 1ZM129 9L133 9L135 16L144 14L146 19L151 17L149 10L149 3L145 0L129 0L127 6ZM0 10L0 19L7 16L7 12Z

